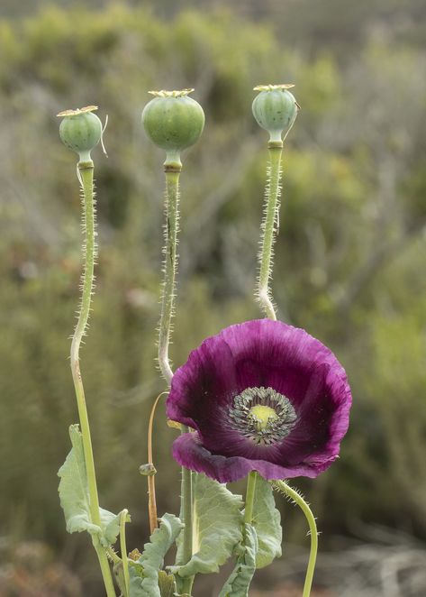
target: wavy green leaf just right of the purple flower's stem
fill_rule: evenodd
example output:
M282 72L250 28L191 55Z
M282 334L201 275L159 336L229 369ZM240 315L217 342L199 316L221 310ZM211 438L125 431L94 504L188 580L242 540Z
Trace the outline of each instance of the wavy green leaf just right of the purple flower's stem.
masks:
M256 528L258 535L256 567L264 568L282 554L283 529L281 515L276 510L272 487L259 474L256 478L251 524Z

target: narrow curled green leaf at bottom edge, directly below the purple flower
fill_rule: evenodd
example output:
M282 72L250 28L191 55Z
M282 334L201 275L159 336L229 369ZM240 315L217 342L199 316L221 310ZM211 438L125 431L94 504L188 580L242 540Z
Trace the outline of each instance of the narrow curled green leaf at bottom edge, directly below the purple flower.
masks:
M244 541L231 576L222 587L219 597L248 597L249 586L256 571L258 537L251 525L244 525Z

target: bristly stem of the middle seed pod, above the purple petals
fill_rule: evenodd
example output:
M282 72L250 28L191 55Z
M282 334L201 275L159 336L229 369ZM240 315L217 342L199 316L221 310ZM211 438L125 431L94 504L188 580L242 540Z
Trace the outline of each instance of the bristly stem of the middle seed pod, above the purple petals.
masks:
M159 319L159 368L164 379L170 385L173 371L168 357L170 344L171 321L175 307L175 286L177 273L177 233L179 228L179 175L175 168L166 171L166 225L164 235L164 282L161 298L161 316Z

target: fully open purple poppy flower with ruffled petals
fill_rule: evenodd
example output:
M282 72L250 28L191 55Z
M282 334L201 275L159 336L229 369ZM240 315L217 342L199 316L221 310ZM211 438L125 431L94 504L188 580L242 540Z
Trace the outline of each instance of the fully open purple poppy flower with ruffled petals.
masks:
M219 482L316 477L338 457L351 394L334 354L303 329L258 319L204 340L177 369L168 418L179 464Z

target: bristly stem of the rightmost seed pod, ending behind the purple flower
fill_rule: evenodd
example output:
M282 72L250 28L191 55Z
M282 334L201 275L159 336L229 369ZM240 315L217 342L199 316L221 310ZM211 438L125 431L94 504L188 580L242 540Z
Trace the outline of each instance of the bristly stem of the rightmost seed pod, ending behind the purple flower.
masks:
M260 231L258 253L257 297L265 315L276 320L276 312L269 289L272 275L274 241L279 227L279 196L281 184L282 142L269 142L269 163L267 166L267 187L265 191L264 217Z

